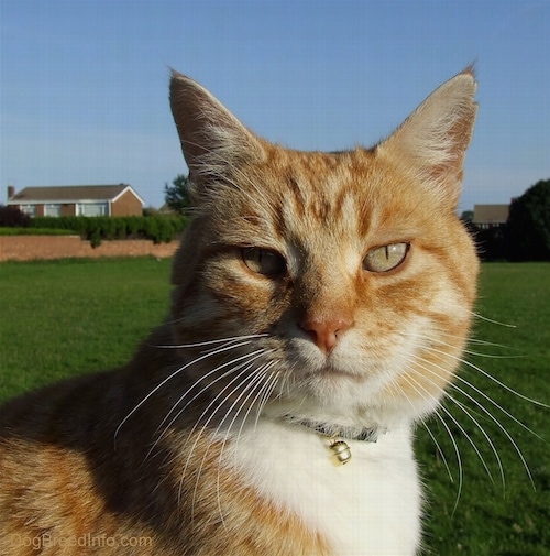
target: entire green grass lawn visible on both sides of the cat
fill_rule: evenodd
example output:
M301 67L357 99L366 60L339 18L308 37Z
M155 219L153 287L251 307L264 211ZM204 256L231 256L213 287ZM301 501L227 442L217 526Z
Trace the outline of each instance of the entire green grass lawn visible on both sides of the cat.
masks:
M169 266L155 259L0 263L0 399L127 361L167 313ZM470 350L477 355L468 360L521 395L550 403L549 307L550 264L485 264L476 308L484 318L476 318L474 334L486 344L474 340ZM455 422L430 419L431 436L418 428L427 554L549 555L550 410L474 367L463 366L460 377L472 388L458 381L464 393L450 393L470 416L448 402Z

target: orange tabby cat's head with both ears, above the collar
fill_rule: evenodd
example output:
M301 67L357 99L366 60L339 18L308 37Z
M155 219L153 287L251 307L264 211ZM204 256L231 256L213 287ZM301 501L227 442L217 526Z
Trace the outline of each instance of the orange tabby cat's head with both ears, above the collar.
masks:
M178 344L211 342L190 372L280 415L392 426L432 411L475 297L475 248L455 215L474 92L469 68L372 149L299 152L174 73L195 214L173 320Z

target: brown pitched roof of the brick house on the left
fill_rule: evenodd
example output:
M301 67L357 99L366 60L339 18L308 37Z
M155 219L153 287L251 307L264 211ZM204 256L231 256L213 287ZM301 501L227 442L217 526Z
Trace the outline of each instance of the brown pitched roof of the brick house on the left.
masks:
M25 187L9 198L8 204L114 201L127 190L145 205L145 201L128 184Z

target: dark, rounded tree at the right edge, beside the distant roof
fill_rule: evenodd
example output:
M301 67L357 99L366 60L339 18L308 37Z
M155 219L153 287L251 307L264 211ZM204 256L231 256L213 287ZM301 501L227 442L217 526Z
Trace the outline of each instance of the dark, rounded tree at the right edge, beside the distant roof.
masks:
M513 200L506 224L508 259L550 261L550 179Z

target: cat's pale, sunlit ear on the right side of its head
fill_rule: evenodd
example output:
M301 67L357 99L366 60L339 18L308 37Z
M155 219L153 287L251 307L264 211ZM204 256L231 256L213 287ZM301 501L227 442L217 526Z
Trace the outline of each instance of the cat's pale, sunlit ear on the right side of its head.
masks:
M377 145L382 156L403 163L453 209L477 112L475 89L474 69L468 67L436 89Z

